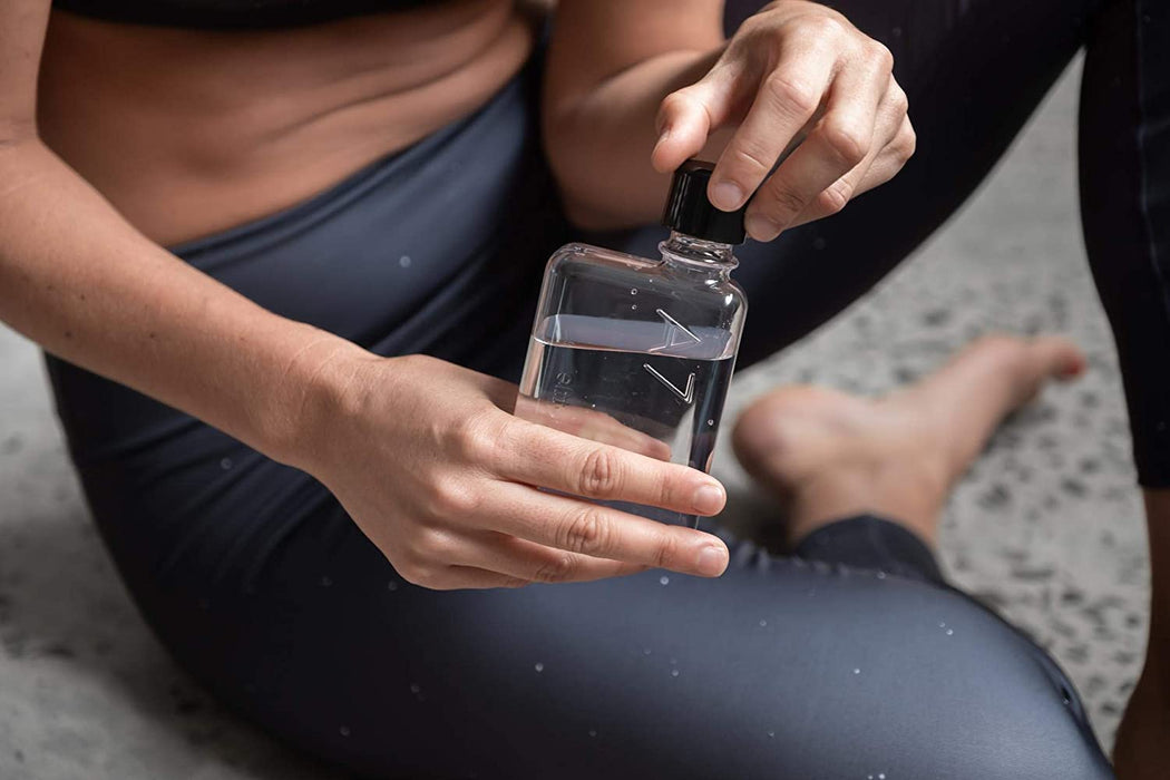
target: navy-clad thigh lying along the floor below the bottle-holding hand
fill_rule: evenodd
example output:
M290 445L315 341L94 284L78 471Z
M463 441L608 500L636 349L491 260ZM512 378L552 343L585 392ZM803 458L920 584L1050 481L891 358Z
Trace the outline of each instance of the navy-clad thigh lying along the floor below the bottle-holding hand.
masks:
M1109 776L1064 676L955 592L748 545L718 580L433 592L318 499L259 565L131 586L221 697L363 775Z

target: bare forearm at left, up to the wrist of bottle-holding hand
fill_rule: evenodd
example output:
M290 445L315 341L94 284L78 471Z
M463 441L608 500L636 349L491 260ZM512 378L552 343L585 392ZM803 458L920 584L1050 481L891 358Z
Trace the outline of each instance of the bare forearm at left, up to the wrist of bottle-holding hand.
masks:
M284 462L360 351L150 242L35 138L0 146L0 319Z

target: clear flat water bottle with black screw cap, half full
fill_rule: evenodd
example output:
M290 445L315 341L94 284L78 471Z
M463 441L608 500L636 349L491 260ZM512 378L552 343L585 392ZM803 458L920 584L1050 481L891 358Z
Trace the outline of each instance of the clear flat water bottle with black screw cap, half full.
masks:
M516 414L708 471L748 299L731 281L743 209L707 199L714 165L675 172L661 257L570 243L549 260ZM695 516L620 505L694 526Z

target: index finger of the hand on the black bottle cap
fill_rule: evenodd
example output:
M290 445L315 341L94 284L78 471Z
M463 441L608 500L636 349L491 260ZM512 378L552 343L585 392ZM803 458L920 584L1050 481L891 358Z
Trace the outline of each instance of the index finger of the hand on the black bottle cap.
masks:
M743 206L817 113L835 64L832 48L817 41L793 41L782 50L775 70L760 82L751 110L720 156L707 192L711 203L728 212Z

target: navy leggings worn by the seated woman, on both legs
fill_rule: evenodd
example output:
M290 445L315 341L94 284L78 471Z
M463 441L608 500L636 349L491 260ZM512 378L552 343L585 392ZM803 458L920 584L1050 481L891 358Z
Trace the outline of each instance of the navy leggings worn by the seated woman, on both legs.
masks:
M731 4L729 25L746 13ZM863 294L963 202L1088 46L1085 228L1148 485L1170 484L1170 4L849 0L910 95L918 153L842 214L748 244L741 365ZM515 378L573 234L536 134L538 61L474 116L177 254L380 354ZM653 228L611 242L652 251ZM370 776L1106 778L1065 675L876 517L717 580L518 592L401 580L310 476L49 360L103 538L146 620L225 702ZM436 394L441 402L441 394ZM393 478L393 474L387 474Z

